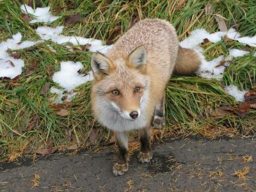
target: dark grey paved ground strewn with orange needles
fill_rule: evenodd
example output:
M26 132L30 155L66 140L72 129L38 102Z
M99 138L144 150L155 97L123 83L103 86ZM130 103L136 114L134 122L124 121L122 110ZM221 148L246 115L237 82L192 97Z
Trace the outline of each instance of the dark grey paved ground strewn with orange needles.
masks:
M0 164L0 191L256 191L256 140L190 138L153 152L149 164L134 154L118 177L109 147Z

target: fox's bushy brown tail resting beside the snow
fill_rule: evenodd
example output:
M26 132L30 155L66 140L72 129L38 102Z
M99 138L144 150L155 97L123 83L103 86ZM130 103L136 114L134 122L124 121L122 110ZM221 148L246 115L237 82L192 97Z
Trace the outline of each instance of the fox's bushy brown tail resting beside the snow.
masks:
M189 76L198 70L201 65L197 52L179 46L178 57L174 67L174 74Z

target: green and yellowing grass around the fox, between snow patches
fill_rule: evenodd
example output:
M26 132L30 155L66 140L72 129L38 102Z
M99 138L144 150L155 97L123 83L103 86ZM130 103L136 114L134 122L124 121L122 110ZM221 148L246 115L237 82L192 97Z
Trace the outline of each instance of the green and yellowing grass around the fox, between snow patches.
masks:
M35 33L38 26L29 24L21 17L20 4L27 1L0 1L0 41L10 38L17 32L24 40L38 40ZM61 15L49 26L65 25L65 17L79 13L83 22L65 25L65 35L91 36L106 41L120 26L124 33L131 20L138 14L140 19L161 18L172 22L180 40L193 29L205 28L207 31L218 30L214 14L226 18L228 28L236 24L242 35L256 34L255 1L82 1L56 0L41 1L44 6L51 6L54 15ZM205 4L211 2L214 12L205 15ZM115 38L115 40L118 36ZM114 40L114 41L115 41ZM56 52L51 52L51 45ZM237 48L255 51L238 42L218 42L206 44L205 56L211 60L220 54L228 54L228 49ZM72 46L76 49L79 46ZM19 79L0 80L0 154L1 159L13 160L22 154L33 153L38 148L58 147L60 150L74 143L81 148L92 147L89 134L92 128L100 134L98 143L109 138L109 131L100 127L90 111L90 86L86 83L76 88L77 95L72 105L63 104L70 114L66 117L56 115L57 109L51 107L51 93L40 95L45 83L58 86L52 81L52 74L60 70L61 61L81 61L85 69L90 69L90 52L68 51L63 45L51 41L17 51L26 66ZM36 63L36 67L35 67ZM33 73L29 74L29 70ZM187 136L201 134L213 138L216 136L255 136L255 111L249 111L246 118L239 118L230 112L212 115L212 111L223 104L236 108L238 103L223 91L223 84L235 84L239 88L250 88L256 79L256 61L253 54L248 54L232 61L227 68L223 81L202 79L201 77L172 77L166 89L166 120L168 124L161 131L167 136ZM36 118L35 118L36 116ZM33 117L33 129L26 127ZM93 128L93 129L94 129ZM71 132L68 135L67 132ZM171 134L170 134L171 133Z

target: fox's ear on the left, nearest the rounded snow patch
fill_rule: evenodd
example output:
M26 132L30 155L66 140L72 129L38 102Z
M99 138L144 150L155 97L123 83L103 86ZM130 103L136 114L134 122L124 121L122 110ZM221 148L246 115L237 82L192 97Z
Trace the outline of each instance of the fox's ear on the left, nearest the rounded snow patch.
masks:
M93 74L108 74L111 69L111 61L100 52L92 54L91 67Z

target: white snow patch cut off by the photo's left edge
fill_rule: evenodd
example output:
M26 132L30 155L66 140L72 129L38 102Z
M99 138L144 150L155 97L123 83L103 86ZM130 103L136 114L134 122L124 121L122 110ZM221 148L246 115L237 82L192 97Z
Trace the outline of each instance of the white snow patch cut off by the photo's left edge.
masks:
M8 38L5 42L0 43L0 77L10 77L13 79L22 73L24 61L13 58L8 51L25 49L35 45L37 42L21 41L22 35L17 33L12 38Z

